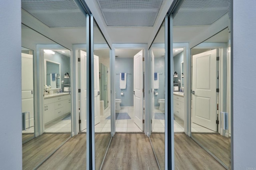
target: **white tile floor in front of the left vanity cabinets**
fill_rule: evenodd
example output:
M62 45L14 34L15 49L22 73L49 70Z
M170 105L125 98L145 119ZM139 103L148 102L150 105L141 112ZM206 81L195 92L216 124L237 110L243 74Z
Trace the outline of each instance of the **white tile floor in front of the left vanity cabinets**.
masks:
M47 125L44 125L44 132L71 132L71 120L62 120L63 117L57 119Z

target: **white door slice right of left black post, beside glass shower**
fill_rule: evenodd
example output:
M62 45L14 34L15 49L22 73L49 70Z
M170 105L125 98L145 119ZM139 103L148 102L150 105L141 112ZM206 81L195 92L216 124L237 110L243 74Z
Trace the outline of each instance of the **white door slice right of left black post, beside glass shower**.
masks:
M94 55L94 123L100 123L100 74L99 57Z

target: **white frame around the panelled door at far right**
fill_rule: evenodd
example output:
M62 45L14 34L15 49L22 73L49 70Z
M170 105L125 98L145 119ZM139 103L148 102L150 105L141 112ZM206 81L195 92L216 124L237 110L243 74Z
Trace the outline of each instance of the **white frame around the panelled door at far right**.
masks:
M228 42L227 42L228 43ZM227 43L200 43L199 45L193 47L196 49L220 49L219 50L219 55L217 54L217 57L220 57L220 61L219 61L219 88L220 88L220 92L219 92L219 96L218 96L218 100L219 100L219 109L218 109L218 119L220 120L220 111L226 111L226 100L225 100L225 93L226 90L224 89L224 86L226 86L226 57L227 57ZM192 56L191 56L192 57ZM191 59L190 59L190 73L192 72L192 68L191 68ZM191 81L192 82L192 75L191 75ZM191 84L190 84L191 85ZM191 92L192 86L190 86L190 92ZM191 93L190 93L191 95ZM192 113L192 109L190 107L190 119L191 119L191 113ZM191 128L191 126L190 126ZM190 131L191 132L191 131ZM218 125L218 133L222 133L222 131L220 131L220 124Z

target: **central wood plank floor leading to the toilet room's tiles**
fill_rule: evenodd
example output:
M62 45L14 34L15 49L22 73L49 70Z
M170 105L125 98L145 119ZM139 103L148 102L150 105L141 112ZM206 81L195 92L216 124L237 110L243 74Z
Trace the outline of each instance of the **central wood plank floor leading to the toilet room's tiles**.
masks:
M116 133L102 170L157 170L150 141L143 133Z

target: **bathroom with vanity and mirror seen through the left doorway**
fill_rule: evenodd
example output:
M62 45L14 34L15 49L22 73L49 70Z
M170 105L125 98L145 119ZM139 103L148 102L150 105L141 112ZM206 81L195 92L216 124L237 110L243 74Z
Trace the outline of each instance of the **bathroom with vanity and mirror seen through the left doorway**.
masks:
M70 51L44 49L44 61L44 132L70 132Z

